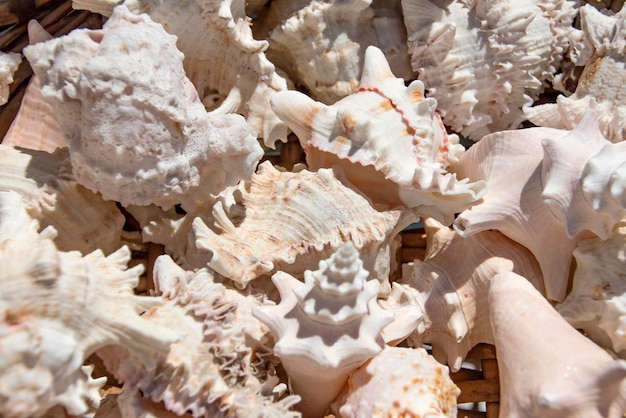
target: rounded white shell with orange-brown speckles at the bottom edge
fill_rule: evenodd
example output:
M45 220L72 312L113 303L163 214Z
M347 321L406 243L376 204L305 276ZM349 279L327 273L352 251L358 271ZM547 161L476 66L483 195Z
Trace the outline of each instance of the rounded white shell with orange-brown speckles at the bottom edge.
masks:
M331 404L338 418L456 418L460 390L423 348L388 347L350 374Z

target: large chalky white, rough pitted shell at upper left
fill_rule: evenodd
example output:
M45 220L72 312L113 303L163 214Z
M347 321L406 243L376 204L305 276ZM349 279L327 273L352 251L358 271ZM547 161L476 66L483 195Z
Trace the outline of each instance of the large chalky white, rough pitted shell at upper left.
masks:
M241 116L207 114L175 43L147 15L117 6L103 30L24 49L67 137L74 176L105 199L193 208L249 177L261 157Z

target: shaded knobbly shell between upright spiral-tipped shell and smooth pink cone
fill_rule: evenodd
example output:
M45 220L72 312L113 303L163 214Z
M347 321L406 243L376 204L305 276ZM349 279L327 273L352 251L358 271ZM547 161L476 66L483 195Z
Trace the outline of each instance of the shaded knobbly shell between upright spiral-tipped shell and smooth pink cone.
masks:
M527 249L498 231L462 238L433 219L424 219L424 226L424 261L402 266L387 303L392 308L412 305L420 320L409 344L430 344L433 355L457 371L472 347L493 344L487 303L493 276L514 271L543 291L541 271Z

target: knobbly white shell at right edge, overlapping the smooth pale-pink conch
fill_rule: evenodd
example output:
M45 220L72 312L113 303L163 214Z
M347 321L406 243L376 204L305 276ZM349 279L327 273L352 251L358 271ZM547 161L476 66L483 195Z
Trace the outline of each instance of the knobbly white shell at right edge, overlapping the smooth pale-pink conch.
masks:
M626 216L626 142L606 140L589 110L569 134L542 144L542 198L568 236L610 237Z

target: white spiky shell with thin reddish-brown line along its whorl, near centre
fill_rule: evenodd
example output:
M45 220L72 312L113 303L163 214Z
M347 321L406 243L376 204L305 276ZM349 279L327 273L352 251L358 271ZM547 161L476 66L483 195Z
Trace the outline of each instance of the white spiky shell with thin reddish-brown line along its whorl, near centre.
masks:
M271 104L298 136L311 169L340 166L375 204L451 223L454 213L485 192L483 183L457 181L446 172L464 152L458 137L446 134L437 102L424 98L424 85L405 87L375 47L365 53L357 93L325 106L281 92Z

